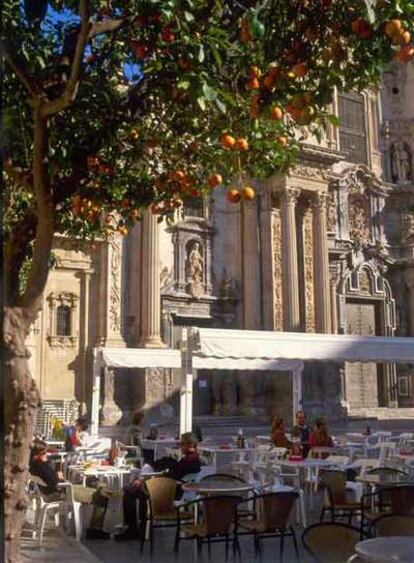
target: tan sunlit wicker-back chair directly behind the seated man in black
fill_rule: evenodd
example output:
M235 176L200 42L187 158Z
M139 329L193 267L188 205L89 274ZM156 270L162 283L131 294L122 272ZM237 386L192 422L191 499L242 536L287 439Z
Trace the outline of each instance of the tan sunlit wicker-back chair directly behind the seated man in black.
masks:
M154 528L178 526L177 508L175 497L177 481L170 477L152 477L145 481L145 492L148 496L146 532L141 536L141 551L144 548L145 538L149 536L150 549L154 547ZM192 519L191 512L182 512L181 520ZM176 539L177 542L177 539Z

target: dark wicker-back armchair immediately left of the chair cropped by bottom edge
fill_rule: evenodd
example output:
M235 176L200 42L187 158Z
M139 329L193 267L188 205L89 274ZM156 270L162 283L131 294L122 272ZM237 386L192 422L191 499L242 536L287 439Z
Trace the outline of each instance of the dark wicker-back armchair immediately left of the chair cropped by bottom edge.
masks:
M295 531L289 526L289 517L299 498L296 491L265 493L255 497L255 513L252 518L238 518L237 535L253 534L256 556L261 551L260 540L280 538L280 557L283 557L284 538L291 537L296 554L299 556ZM246 501L242 501L246 502ZM239 514L238 509L238 514ZM237 547L238 542L236 540Z

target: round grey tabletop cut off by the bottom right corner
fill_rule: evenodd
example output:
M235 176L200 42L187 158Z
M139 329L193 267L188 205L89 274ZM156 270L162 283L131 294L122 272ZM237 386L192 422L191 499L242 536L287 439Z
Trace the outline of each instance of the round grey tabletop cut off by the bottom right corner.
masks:
M356 544L355 551L370 563L412 563L414 560L414 538L411 536L388 536L364 540Z

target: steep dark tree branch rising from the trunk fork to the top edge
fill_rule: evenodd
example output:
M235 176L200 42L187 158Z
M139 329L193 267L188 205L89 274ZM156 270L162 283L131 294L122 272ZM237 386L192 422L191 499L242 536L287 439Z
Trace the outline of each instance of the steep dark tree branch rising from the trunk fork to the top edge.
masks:
M42 117L48 117L59 113L72 104L76 98L79 83L79 73L82 63L85 45L89 39L89 1L79 1L79 15L81 17L81 26L78 39L76 42L75 56L73 57L71 71L65 91L59 98L51 102L45 103L42 107Z

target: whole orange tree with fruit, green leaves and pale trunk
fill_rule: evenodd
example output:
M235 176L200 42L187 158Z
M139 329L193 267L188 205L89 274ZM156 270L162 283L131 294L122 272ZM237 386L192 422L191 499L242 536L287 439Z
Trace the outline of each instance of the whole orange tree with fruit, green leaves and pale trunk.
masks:
M288 171L334 87L413 57L412 0L4 0L7 560L39 396L25 338L53 237L126 234L219 184ZM228 197L254 192L231 188Z

